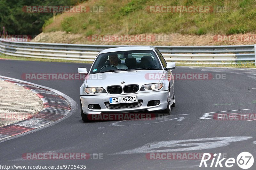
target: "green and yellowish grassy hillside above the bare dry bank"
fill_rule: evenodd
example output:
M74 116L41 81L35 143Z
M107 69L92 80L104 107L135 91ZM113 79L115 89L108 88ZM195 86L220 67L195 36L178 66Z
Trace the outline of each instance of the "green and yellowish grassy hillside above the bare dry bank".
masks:
M251 0L88 0L103 12L63 13L46 21L44 32L84 35L143 33L236 34L256 32L256 3ZM210 13L155 13L149 6L212 6ZM225 6L227 9L222 9ZM225 12L216 12L221 7Z

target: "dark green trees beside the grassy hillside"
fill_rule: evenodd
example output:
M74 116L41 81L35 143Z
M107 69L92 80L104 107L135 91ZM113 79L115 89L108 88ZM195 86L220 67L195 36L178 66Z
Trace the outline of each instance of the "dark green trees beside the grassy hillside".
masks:
M28 13L24 6L73 6L82 0L1 0L0 31L3 26L10 35L37 35L52 13Z

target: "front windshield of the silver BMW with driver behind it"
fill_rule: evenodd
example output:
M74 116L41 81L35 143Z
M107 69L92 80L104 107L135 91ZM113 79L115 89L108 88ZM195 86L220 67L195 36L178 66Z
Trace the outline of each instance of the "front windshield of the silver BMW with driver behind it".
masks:
M154 51L118 51L100 54L90 74L122 70L161 70Z

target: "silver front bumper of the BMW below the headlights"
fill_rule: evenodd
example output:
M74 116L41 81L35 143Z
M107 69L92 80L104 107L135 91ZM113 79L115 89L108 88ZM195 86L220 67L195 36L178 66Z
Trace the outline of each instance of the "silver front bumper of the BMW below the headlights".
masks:
M136 108L122 108L122 109L108 109L105 105L105 102L109 101L110 97L129 97L137 96L138 100L143 100L142 105ZM125 94L125 95L97 95L97 96L80 96L82 103L82 109L84 114L101 114L101 113L128 113L128 112L137 112L137 111L158 111L164 110L167 108L167 91L159 92L143 92L136 94ZM160 104L156 106L147 106L148 101L150 100L160 100ZM89 104L99 104L101 109L89 109ZM121 105L121 104L120 104Z

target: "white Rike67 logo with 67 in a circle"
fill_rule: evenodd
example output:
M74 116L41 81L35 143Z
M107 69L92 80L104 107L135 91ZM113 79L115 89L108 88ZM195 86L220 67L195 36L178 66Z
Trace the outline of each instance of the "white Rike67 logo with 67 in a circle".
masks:
M234 166L234 164L236 163L240 168L248 169L248 168L252 167L252 165L254 163L253 156L249 152L240 153L236 157L236 159L235 158L228 158L228 159L227 158L222 158L222 159L220 159L220 157L221 157L221 153L219 153L219 155L214 153L211 165L209 167L223 167L222 164L224 164L226 167L230 168L230 167ZM215 161L216 158L217 158L217 160L216 160L215 165L214 165L214 161ZM204 164L203 167L208 167L206 162L210 159L211 159L211 154L210 153L204 153L199 167L202 167L203 164ZM225 159L227 159L227 160L224 161Z

